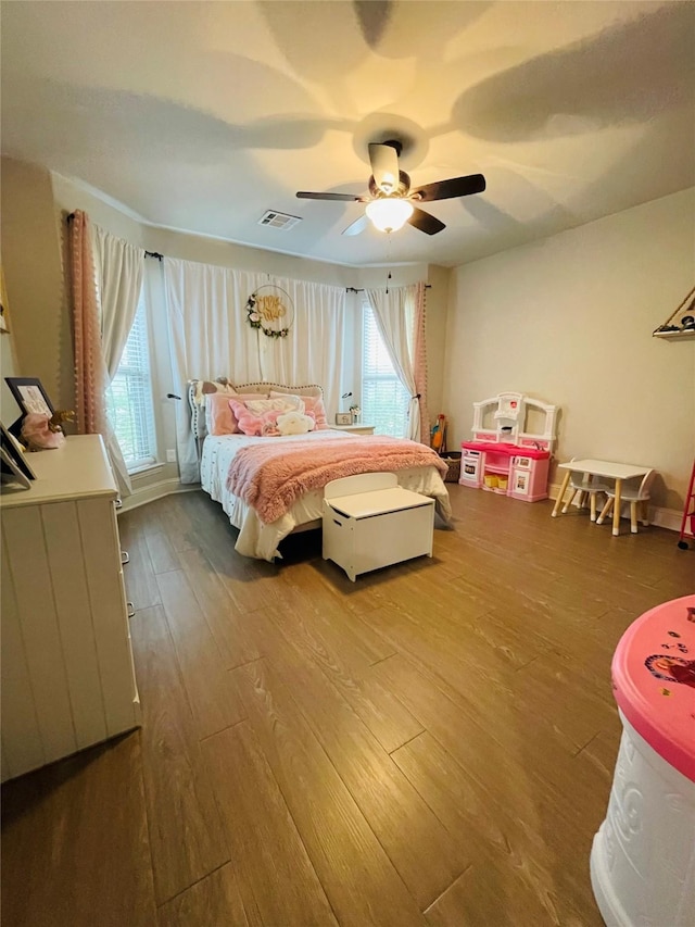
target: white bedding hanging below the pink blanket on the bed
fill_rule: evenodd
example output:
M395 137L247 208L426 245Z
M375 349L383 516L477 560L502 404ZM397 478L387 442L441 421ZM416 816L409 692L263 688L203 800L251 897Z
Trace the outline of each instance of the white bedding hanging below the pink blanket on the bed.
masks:
M258 441L292 441L292 440L321 440L327 438L344 438L346 441L361 441L359 435L346 435L344 431L331 429L312 431L309 435L293 435L285 438L250 438L244 435L224 435L222 437L207 436L203 442L203 451L200 466L201 486L208 496L219 502L231 524L239 528L239 537L235 550L243 556L253 556L257 560L273 562L280 558L278 544L295 528L316 522L320 525L323 517L323 489L315 489L299 499L290 511L266 525L256 515L255 511L247 505L243 500L233 496L227 489L227 474L235 453L242 447L257 443ZM434 499L435 511L446 524L451 521L451 504L448 491L444 480L437 467L412 467L396 472L399 484L413 492L420 492Z

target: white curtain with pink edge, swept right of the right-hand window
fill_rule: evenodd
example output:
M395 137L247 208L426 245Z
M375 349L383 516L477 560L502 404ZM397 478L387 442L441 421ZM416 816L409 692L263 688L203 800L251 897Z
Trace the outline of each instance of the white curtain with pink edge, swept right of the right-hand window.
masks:
M403 386L410 394L408 406L407 437L413 441L429 442L429 435L422 435L421 411L425 409L425 384L418 384L416 361L424 345L416 341L416 315L418 292L424 292L421 284L408 287L395 287L389 290L365 290L379 334L389 351L389 356ZM419 388L418 388L419 386ZM422 409L420 408L420 404Z

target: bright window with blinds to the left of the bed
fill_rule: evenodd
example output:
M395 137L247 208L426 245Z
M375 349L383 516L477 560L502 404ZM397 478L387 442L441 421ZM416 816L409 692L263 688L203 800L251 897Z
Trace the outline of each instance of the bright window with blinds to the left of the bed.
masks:
M156 433L144 290L140 292L118 369L106 390L106 409L128 472L155 463Z

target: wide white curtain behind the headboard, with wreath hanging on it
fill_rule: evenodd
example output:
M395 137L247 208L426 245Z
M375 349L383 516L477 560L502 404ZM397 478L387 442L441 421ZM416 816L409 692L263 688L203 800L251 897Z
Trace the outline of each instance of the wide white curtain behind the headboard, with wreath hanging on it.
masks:
M232 384L316 383L324 388L329 413L339 408L344 288L172 258L165 258L163 266L176 392L186 397L188 380L219 376ZM286 338L268 337L249 324L248 299L263 286L287 293L283 302L290 309L290 330ZM176 405L181 483L198 483L188 403Z

